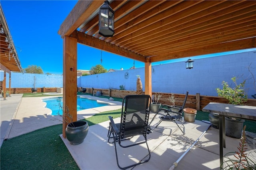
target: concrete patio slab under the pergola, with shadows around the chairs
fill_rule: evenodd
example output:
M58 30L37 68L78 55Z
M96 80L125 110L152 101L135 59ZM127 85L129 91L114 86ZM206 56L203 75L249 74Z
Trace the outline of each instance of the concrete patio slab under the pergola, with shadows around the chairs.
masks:
M150 114L152 119L153 113ZM116 123L120 118L114 119ZM156 118L154 121L158 121ZM153 122L154 124L154 122ZM153 125L152 124L152 125ZM194 141L209 127L209 124L202 121L195 123L186 122L186 134L176 127L172 122L162 122L154 131L147 135L148 145L151 151L151 158L148 162L130 169L138 170L167 170L173 163L193 144ZM62 138L70 154L73 156L81 170L113 170L119 169L116 164L114 144L107 142L109 121L89 127L88 135L84 142L78 145L71 145L67 139ZM170 135L171 134L171 135ZM62 137L62 135L60 135ZM140 138L132 138L138 142ZM184 156L175 168L184 169L219 169L219 130L210 127L196 145ZM226 136L227 147L224 154L237 150L239 139ZM130 141L127 141L130 142ZM117 144L119 163L127 166L142 160L147 155L146 144L121 148ZM251 149L248 149L251 150Z

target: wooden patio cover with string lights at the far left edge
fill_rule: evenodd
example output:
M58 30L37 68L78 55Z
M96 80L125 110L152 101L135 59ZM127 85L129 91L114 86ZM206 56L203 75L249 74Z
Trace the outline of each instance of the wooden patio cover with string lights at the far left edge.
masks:
M11 91L11 71L22 72L22 67L6 22L2 6L0 6L0 69L4 71L2 89L6 100L6 72L9 73L9 94Z

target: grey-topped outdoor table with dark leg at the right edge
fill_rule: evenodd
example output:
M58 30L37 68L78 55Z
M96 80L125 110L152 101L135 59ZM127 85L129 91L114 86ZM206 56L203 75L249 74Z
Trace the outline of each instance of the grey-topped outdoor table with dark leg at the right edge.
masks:
M223 164L223 147L226 148L225 117L235 117L239 119L246 119L249 121L256 121L256 107L211 102L206 105L206 107L204 107L202 111L219 114L221 167Z

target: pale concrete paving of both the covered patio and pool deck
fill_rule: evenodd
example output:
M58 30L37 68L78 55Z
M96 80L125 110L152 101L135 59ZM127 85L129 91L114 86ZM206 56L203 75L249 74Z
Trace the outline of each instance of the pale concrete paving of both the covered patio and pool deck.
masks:
M56 116L48 115L51 111L49 111L50 109L44 108L45 103L42 102L42 98L44 97L22 98L22 95L15 94L7 98L7 101L2 101L1 99L1 144L4 138L13 138L39 128L62 123L60 121L54 121L57 118ZM113 103L115 104L109 107L110 110L121 108L120 102ZM90 117L102 111L106 111L106 107L86 109L79 112L78 117ZM150 120L153 116L154 113L150 113ZM35 123L33 123L34 121ZM120 123L120 118L116 118L114 121ZM154 120L152 125L157 121L158 118ZM30 128L27 128L28 125ZM194 123L186 122L184 125L186 128L185 135L176 127L176 124L163 121L152 133L147 135L148 146L151 151L150 160L129 169L168 170L202 132L209 127L209 124L202 121L195 121ZM90 126L84 142L78 145L71 145L68 140L62 138L62 134L60 134L60 137L81 170L119 169L116 164L114 144L107 142L108 127L109 121ZM2 136L5 137L3 138ZM125 142L138 142L140 139L141 138L134 137L131 141L127 140ZM226 136L226 148L223 149L224 154L236 151L239 146L239 141L239 139ZM175 169L220 169L218 142L219 130L210 127L196 145L182 158ZM121 166L133 164L147 156L145 144L130 148L120 148L120 146L117 145L117 149ZM254 153L252 156L254 156L254 158L256 157L255 150L252 152L250 146L248 147L248 152Z

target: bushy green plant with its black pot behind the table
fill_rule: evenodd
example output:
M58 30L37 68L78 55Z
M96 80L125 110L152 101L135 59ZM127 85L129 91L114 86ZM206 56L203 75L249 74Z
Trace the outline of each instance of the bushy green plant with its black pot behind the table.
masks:
M229 104L232 105L244 105L244 102L247 101L247 95L243 89L246 80L242 83L236 83L236 77L232 77L232 81L234 82L235 86L232 88L228 85L227 82L223 81L223 89L216 88L219 97L224 97L228 99ZM212 114L212 113L210 113ZM210 122L213 120L212 115L209 114ZM214 114L215 117L218 117L218 114ZM244 119L236 119L236 118L228 118L226 117L226 136L230 136L232 138L241 138L242 136L242 129L244 124ZM216 125L217 123L215 123Z

